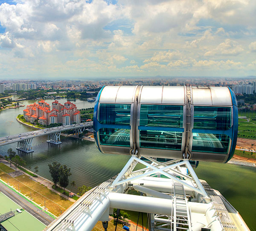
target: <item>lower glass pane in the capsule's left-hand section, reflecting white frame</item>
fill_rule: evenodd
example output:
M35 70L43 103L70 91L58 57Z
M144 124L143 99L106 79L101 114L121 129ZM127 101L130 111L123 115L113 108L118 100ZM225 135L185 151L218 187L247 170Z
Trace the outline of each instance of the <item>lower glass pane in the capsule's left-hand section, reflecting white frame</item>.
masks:
M130 147L130 130L116 128L101 128L99 142L102 145Z

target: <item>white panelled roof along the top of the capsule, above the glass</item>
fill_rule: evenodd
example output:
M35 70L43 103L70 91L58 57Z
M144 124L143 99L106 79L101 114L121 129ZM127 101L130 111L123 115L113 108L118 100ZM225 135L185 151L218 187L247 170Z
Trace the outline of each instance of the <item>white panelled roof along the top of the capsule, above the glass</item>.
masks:
M99 102L132 103L137 86L106 86L103 88ZM181 104L186 102L183 86L143 86L140 103ZM228 87L192 87L193 105L232 106L232 98Z

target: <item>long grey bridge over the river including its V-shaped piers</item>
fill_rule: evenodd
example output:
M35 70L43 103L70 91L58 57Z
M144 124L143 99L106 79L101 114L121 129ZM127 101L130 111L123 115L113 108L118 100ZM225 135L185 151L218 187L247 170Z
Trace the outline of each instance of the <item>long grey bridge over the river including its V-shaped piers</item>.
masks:
M12 136L5 136L0 138L0 146L17 142L17 150L20 150L25 153L32 153L34 152L34 150L32 149L31 143L32 139L35 137L48 135L48 143L61 144L61 132L67 130L75 130L75 133L78 136L85 130L85 128L90 127L93 127L93 122L70 124L65 126L35 130L32 132L20 133Z

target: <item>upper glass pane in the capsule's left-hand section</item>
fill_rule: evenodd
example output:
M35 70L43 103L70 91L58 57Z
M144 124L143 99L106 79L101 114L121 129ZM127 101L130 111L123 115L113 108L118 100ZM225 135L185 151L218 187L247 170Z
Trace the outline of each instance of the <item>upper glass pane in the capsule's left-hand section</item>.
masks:
M100 104L99 122L102 124L130 125L131 104Z

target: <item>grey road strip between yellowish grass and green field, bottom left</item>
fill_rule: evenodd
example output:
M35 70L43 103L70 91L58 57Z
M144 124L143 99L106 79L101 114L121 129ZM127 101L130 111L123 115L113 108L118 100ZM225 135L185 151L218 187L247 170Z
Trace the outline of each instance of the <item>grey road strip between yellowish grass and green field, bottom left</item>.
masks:
M0 182L0 191L20 205L23 209L28 211L32 216L40 220L44 223L44 225L49 225L54 219L50 217L48 214L41 211L35 205L24 199L22 196L12 191L12 189L8 188L2 182Z

